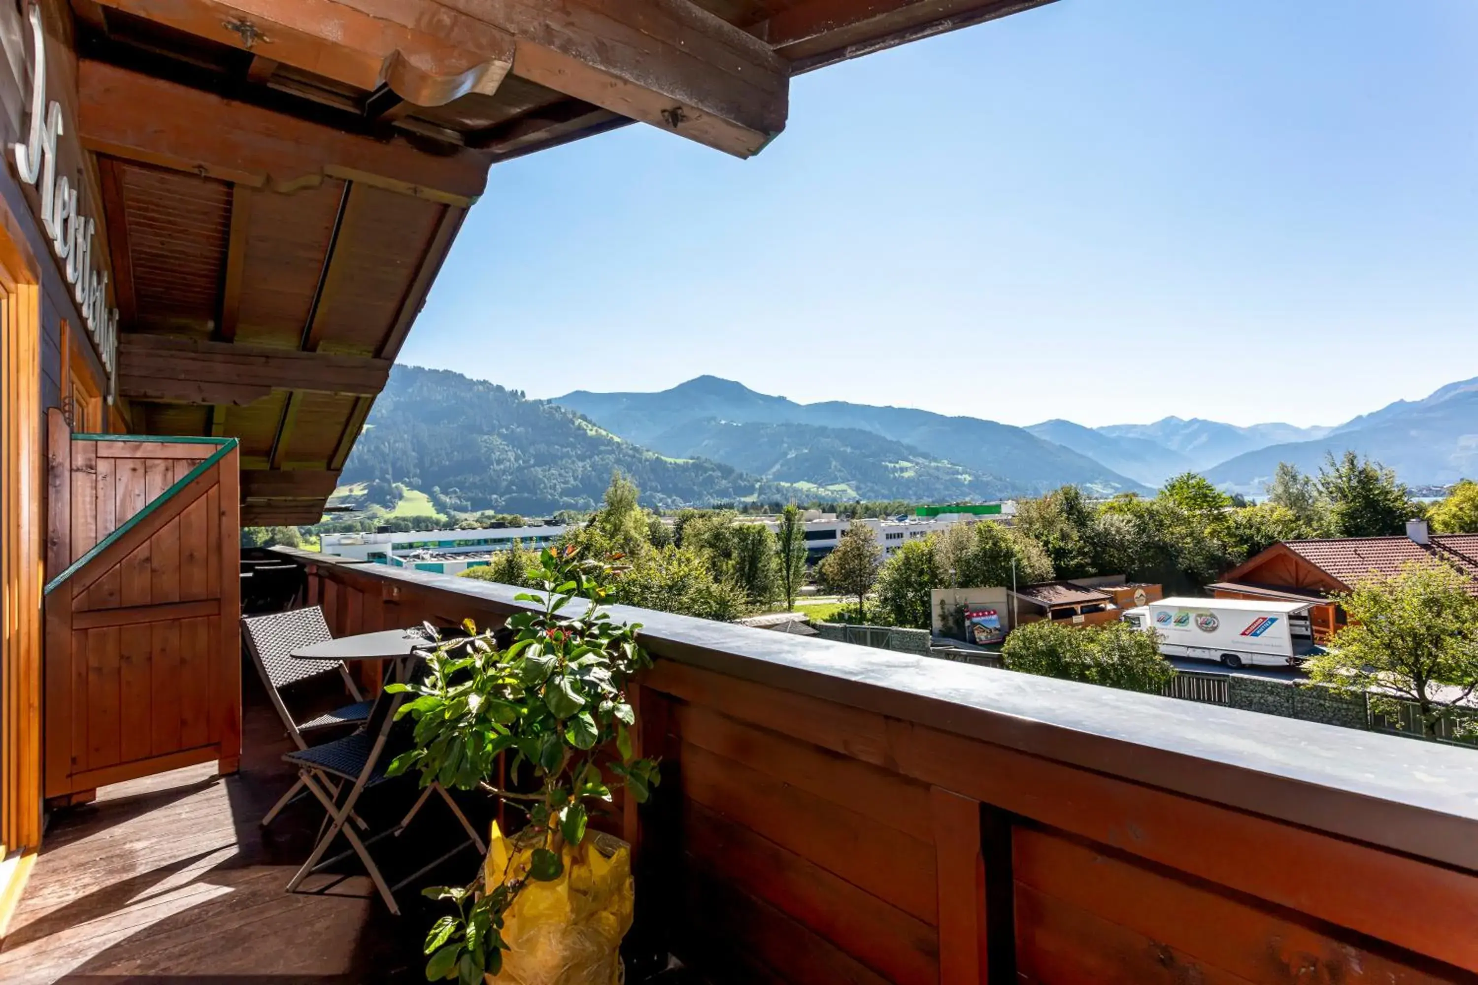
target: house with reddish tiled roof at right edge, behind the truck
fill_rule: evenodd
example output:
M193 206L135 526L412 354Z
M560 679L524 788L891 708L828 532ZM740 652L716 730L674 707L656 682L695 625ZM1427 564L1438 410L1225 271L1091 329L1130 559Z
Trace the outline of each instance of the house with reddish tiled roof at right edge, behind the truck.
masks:
M1366 577L1397 574L1413 561L1451 566L1478 595L1478 533L1434 535L1425 520L1407 523L1404 536L1280 540L1206 588L1215 598L1324 600ZM1314 638L1324 642L1345 625L1345 614L1327 603L1310 610L1310 620Z

